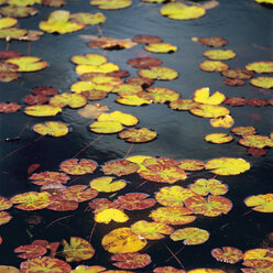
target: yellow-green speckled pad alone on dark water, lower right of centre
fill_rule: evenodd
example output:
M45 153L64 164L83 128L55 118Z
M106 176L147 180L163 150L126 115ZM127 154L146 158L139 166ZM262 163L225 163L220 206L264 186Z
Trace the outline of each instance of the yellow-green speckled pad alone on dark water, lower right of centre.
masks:
M205 229L185 228L175 230L170 237L173 241L184 240L184 244L193 245L206 242L209 238L209 232Z

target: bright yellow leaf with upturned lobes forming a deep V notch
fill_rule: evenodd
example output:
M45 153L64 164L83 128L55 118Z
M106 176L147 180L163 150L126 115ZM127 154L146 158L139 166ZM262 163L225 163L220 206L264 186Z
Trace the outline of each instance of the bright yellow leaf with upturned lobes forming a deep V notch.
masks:
M193 99L195 102L198 103L220 105L226 99L226 97L219 91L216 91L210 96L209 88L203 87L200 89L195 90Z

